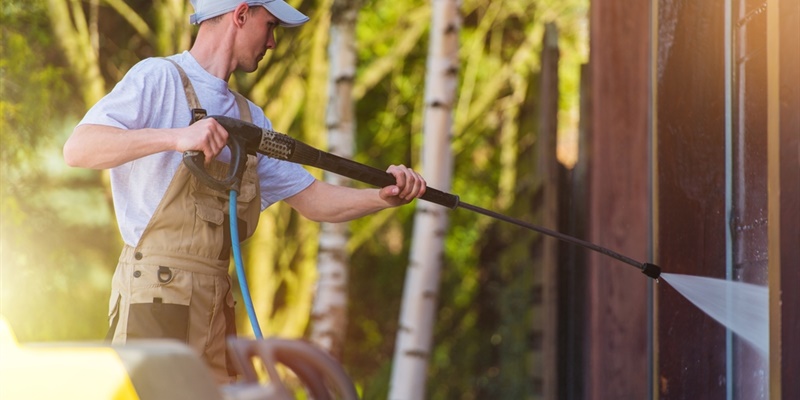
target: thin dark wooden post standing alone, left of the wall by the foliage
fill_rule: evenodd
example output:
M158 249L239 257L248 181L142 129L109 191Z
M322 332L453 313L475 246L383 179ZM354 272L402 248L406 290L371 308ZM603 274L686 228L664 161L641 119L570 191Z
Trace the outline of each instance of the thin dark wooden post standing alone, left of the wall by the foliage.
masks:
M545 25L539 101L539 171L542 177L542 225L558 229L558 28ZM558 398L558 241L542 243L542 357L543 398Z

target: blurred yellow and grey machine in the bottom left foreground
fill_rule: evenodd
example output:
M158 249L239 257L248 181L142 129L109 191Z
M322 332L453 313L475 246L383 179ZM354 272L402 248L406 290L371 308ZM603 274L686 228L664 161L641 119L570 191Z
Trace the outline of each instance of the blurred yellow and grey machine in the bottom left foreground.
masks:
M185 343L17 343L0 317L0 400L220 400Z

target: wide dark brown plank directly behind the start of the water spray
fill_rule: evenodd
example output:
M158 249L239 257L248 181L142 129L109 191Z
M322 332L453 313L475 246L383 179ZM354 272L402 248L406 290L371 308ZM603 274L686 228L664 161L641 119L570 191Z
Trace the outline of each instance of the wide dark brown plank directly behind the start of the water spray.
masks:
M659 2L658 262L725 276L725 29L722 2ZM658 396L726 395L725 328L658 284Z

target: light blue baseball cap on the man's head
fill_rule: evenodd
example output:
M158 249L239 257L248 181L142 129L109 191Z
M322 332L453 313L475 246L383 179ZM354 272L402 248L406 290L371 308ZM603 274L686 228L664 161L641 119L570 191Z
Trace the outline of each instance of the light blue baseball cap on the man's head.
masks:
M191 0L194 14L189 17L189 22L197 25L209 18L214 18L233 11L239 4L247 3L249 6L262 6L278 18L281 26L294 27L305 24L308 17L297 11L283 0Z

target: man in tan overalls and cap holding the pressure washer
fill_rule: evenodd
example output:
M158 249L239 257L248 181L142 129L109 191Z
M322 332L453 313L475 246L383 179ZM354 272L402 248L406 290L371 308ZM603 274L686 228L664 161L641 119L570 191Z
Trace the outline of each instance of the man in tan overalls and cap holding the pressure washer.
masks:
M228 88L231 74L255 71L275 47L279 25L308 17L281 0L192 0L199 24L191 50L135 65L94 105L64 146L70 166L110 169L125 247L114 273L109 338L169 337L198 351L220 382L233 375L225 337L235 334L227 273L228 194L200 183L182 153L202 151L209 171L225 171L228 132L204 114L271 128L262 110ZM219 156L219 157L218 157ZM237 199L240 237L260 212L283 200L314 221L342 222L406 204L425 181L391 166L397 184L352 189L315 180L302 167L249 156Z

